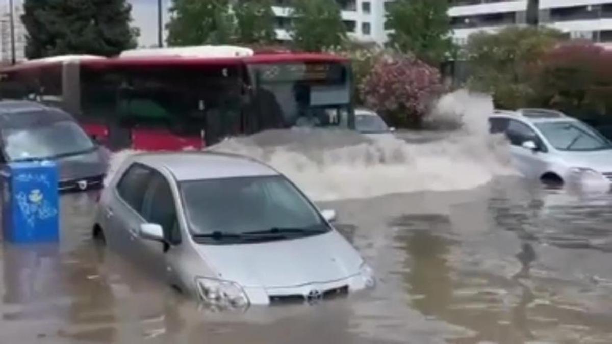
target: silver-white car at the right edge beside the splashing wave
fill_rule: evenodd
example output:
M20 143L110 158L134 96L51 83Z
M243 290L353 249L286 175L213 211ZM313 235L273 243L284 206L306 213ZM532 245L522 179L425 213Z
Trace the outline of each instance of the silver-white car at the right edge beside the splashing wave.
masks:
M518 170L547 184L612 181L612 143L597 130L558 111L496 111L491 133L506 133Z

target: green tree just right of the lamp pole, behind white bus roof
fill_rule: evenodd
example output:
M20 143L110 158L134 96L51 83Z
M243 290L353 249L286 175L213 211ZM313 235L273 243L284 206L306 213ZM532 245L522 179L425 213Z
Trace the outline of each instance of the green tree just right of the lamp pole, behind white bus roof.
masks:
M170 16L169 45L226 44L236 39L228 0L173 0Z

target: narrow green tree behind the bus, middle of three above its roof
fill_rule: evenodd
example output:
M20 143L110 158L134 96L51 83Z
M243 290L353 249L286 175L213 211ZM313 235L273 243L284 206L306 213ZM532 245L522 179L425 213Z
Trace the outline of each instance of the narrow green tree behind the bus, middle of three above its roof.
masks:
M274 42L274 12L271 0L241 0L234 6L237 42L267 44Z

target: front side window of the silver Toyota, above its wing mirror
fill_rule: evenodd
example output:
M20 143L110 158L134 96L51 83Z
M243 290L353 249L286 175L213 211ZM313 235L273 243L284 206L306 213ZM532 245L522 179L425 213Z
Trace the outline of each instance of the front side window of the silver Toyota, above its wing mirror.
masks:
M181 230L176 217L176 205L170 184L162 174L153 172L149 189L144 194L141 214L147 222L162 226L166 240L177 245L181 242Z

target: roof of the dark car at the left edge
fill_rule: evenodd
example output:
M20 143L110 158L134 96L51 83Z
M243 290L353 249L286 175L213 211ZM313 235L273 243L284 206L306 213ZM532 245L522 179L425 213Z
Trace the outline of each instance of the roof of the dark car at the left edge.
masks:
M59 121L74 121L69 113L58 108L19 101L4 100L0 102L0 128L24 128L51 124Z

